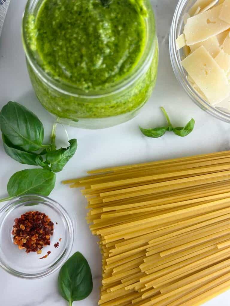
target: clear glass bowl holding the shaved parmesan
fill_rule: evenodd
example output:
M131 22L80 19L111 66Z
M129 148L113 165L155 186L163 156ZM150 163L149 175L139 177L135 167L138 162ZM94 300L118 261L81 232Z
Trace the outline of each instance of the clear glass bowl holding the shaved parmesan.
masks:
M181 65L181 58L184 56L183 49L176 49L176 39L182 34L184 30L183 16L189 11L191 6L195 3L194 0L179 0L176 7L171 30L169 37L169 52L172 63L172 68L175 73L175 76L179 83L182 85L189 97L196 103L202 110L205 110L214 117L225 121L230 122L230 111L224 107L212 106L207 101L205 101L197 91L194 90L190 82L187 80L187 73ZM228 98L229 100L229 98ZM223 105L226 101L223 101Z

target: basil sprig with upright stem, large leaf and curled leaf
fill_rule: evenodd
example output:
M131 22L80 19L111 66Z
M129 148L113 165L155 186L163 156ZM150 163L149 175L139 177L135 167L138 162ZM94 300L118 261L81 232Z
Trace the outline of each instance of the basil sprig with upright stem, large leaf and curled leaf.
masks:
M3 106L0 113L0 127L6 154L21 164L41 166L59 172L77 150L76 139L69 140L68 148L56 150L56 123L51 143L42 144L43 124L35 114L17 102L10 101Z

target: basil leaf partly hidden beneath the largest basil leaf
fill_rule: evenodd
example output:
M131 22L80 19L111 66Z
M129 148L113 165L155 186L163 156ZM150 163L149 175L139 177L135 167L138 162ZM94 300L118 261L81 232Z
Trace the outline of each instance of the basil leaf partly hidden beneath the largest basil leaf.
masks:
M6 151L6 154L11 158L25 165L37 166L36 158L37 155L34 153L29 153L23 151L20 147L13 146L7 137L2 134L3 147Z

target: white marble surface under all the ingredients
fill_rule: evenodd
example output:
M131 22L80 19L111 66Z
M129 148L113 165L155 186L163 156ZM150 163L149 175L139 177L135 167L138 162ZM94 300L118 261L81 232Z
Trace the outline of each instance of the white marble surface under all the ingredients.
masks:
M9 100L16 100L33 110L43 121L46 136L52 127L51 116L38 103L25 65L21 44L21 16L26 0L11 0L0 39L0 108ZM92 269L94 289L86 300L73 305L95 306L99 297L101 256L97 238L93 237L85 221L85 201L76 189L61 185L63 179L85 175L86 170L98 167L146 162L185 155L225 150L229 148L230 125L199 109L186 96L174 77L169 54L168 34L177 0L153 0L160 47L159 76L150 101L133 120L104 130L82 130L68 127L71 138L77 137L79 148L73 159L58 174L51 197L61 203L73 216L77 230L73 252L80 251ZM138 125L163 123L159 106L165 106L175 124L185 124L195 118L194 132L180 138L168 133L159 139L142 136ZM10 176L25 166L8 157L0 143L0 195L6 196ZM29 167L29 166L28 166ZM57 292L58 272L38 280L24 280L0 270L0 305L7 306L65 306L66 301ZM230 291L206 306L230 305ZM114 305L115 306L115 305Z

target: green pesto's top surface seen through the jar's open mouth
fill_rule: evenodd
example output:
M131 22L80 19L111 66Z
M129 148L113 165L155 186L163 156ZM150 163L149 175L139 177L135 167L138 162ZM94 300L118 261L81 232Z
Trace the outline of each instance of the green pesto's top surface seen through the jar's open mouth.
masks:
M83 91L114 86L145 45L143 0L45 0L27 32L40 65Z

